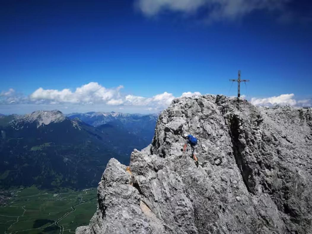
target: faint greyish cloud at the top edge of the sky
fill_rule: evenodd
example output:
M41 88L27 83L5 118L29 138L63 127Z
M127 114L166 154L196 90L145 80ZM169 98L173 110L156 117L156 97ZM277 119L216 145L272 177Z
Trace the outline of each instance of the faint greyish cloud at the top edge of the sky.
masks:
M147 16L163 11L195 13L207 11L208 20L233 20L254 10L283 11L290 0L137 0L136 5Z

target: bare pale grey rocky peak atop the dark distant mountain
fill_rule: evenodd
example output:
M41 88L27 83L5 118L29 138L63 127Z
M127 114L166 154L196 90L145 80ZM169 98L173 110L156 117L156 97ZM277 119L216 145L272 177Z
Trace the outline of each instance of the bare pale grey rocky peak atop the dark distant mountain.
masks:
M21 116L17 119L17 122L37 122L37 127L40 127L41 125L48 125L50 123L60 123L65 119L65 115L63 115L63 113L59 110L37 110L31 114Z

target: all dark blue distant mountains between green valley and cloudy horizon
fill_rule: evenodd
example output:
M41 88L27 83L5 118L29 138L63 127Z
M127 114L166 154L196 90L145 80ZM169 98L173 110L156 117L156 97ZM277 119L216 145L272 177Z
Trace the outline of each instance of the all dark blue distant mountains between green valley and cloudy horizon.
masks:
M156 115L35 111L0 116L0 188L96 186L108 160L125 164L154 136Z

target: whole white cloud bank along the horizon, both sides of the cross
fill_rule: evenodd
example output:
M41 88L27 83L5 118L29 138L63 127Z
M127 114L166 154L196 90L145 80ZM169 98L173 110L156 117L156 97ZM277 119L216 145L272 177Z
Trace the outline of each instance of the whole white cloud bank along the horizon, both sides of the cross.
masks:
M106 105L124 107L136 106L142 110L159 111L171 104L172 100L177 98L172 93L164 92L152 97L142 97L138 95L124 95L121 90L124 87L119 85L115 88L105 88L97 82L77 87L75 91L70 89L52 90L38 88L32 94L26 96L17 93L14 89L2 91L0 93L0 105L14 104L34 104L34 105ZM201 95L200 92L184 92L180 97L192 97ZM244 98L244 95L242 95ZM251 98L253 105L273 106L273 105L290 105L290 106L312 106L311 99L296 100L294 94L282 94L279 96L267 98Z

